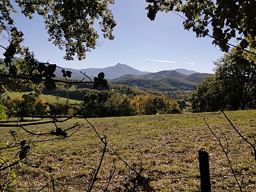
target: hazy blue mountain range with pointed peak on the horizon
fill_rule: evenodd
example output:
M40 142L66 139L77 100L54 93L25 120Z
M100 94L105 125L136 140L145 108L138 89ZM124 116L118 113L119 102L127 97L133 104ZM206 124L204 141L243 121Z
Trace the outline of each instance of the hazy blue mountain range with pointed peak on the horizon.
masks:
M123 84L132 87L139 87L146 90L162 90L162 91L176 91L176 90L193 90L204 77L209 76L208 73L198 73L187 69L164 70L156 73L149 73L147 71L139 71L128 65L118 63L115 66L108 66L107 68L87 68L87 69L68 69L71 71L74 79L82 79L84 75L97 77L99 73L105 74L105 79L112 84ZM60 74L59 74L60 73ZM58 70L55 72L57 77L61 77L62 73Z

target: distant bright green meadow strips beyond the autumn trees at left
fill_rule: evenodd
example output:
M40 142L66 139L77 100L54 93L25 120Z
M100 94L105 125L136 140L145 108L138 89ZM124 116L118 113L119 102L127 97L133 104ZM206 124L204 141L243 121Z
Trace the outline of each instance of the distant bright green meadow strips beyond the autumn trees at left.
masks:
M7 94L5 95L5 97L10 96L11 99L13 98L21 98L21 96L23 96L23 94L29 94L30 92L7 92ZM34 91L32 91L32 93L34 93ZM48 102L51 103L55 103L57 102L56 96L53 95L46 95L46 94L41 94L40 98L46 99ZM58 102L66 102L66 98L59 98ZM74 99L68 99L69 104L79 104L81 101L77 101Z

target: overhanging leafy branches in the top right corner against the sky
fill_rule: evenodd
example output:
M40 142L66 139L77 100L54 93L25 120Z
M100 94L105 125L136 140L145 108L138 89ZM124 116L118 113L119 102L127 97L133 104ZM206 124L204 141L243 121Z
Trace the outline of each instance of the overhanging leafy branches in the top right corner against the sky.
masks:
M229 51L232 42L243 51L255 55L256 2L254 0L146 0L148 18L155 20L157 12L176 12L184 19L184 29L197 37L212 37L221 51Z

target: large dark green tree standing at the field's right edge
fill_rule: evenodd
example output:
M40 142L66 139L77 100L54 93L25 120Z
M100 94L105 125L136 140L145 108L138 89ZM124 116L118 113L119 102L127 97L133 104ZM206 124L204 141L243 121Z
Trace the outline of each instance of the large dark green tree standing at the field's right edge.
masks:
M194 112L256 107L256 65L233 62L235 54L236 48L217 60L215 75L197 86L191 97ZM244 53L243 57L248 55ZM255 61L255 57L250 59Z

